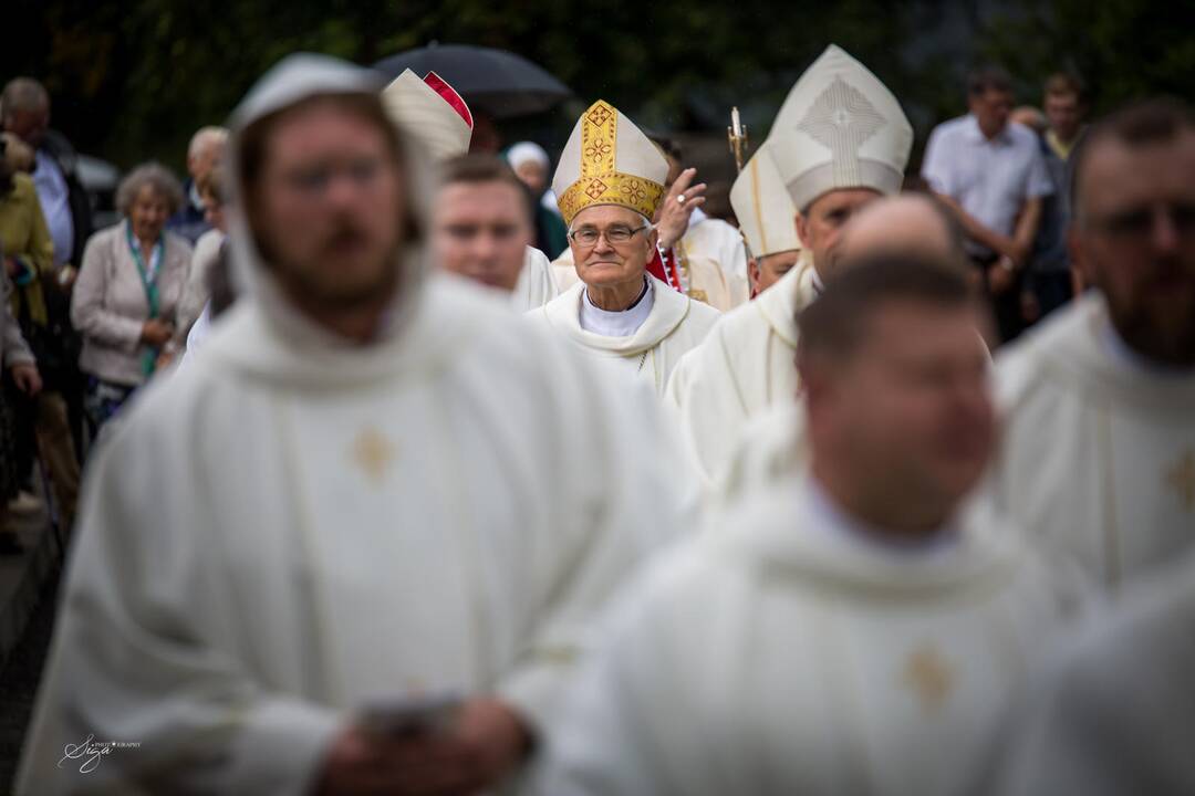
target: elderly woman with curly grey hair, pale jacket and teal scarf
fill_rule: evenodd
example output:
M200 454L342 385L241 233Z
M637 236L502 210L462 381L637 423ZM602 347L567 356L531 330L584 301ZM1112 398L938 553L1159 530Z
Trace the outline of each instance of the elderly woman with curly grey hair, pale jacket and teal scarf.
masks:
M116 191L124 218L87 241L71 319L84 338L79 366L97 431L173 356L191 245L165 226L182 203L173 174L158 163L139 166Z

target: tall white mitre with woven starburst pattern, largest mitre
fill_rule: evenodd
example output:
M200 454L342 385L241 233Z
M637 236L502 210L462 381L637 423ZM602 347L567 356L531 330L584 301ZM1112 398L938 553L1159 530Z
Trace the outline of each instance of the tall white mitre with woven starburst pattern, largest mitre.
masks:
M827 191L896 193L913 148L913 127L871 72L835 44L789 92L768 135L792 204Z

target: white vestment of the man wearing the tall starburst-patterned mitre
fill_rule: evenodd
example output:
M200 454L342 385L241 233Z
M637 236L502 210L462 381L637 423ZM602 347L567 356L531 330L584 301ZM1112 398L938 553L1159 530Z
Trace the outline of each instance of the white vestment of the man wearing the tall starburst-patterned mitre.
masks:
M676 366L666 402L710 483L722 479L747 420L797 393L797 313L817 295L803 257L754 301L727 313Z

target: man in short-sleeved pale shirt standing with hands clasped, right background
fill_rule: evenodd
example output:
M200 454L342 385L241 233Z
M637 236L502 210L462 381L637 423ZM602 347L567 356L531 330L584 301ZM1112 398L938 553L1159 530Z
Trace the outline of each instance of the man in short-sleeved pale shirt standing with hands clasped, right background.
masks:
M992 297L1000 337L1024 326L1021 277L1029 265L1042 199L1054 192L1032 131L1009 122L1012 86L994 67L968 78L967 116L930 134L921 177L955 211Z

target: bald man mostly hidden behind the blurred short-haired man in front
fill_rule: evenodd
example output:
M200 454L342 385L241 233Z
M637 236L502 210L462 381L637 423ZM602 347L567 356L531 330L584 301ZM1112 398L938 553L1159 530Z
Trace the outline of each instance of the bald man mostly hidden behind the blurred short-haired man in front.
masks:
M836 261L841 267L850 267L852 263L877 255L912 255L964 269L963 233L943 204L927 195L906 193L877 199L850 221ZM991 331L981 329L981 333L991 338ZM807 443L804 407L798 395L795 401L752 419L709 499L716 505L729 504L791 476L807 462Z

